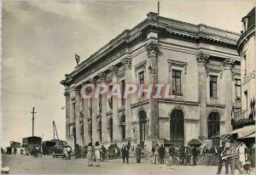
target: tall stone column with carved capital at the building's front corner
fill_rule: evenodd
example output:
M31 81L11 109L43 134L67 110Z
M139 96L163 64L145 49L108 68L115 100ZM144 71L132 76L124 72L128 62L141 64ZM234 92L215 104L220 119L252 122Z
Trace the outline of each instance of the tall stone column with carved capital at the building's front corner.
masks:
M149 72L149 84L153 84L152 93L156 92L155 84L158 83L158 44L150 42L147 45L148 59L150 60L151 70ZM159 105L157 99L149 99L149 134L148 138L159 138Z

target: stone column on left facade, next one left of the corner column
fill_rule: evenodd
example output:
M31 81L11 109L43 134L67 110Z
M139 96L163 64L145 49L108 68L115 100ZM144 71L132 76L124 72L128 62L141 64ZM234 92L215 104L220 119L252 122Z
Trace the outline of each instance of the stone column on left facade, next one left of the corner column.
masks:
M126 57L122 60L125 66L125 85L131 83L131 58ZM132 127L131 127L131 95L125 99L125 139L131 140Z

